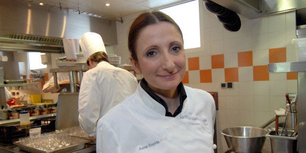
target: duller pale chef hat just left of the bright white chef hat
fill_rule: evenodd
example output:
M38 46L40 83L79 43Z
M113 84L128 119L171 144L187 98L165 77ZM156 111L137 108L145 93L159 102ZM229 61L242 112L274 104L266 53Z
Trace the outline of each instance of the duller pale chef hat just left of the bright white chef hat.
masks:
M66 59L76 59L76 54L80 53L79 39L63 38Z

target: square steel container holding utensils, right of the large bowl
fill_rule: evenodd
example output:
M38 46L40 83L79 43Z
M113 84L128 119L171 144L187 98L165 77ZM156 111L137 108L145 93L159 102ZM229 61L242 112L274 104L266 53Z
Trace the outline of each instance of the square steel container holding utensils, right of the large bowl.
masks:
M284 130L285 131L285 130ZM298 153L297 147L297 137L298 135L290 135L293 133L293 130L287 130L286 136L285 132L279 130L279 133L276 134L275 131L270 131L266 137L270 138L271 142L271 152L272 153Z

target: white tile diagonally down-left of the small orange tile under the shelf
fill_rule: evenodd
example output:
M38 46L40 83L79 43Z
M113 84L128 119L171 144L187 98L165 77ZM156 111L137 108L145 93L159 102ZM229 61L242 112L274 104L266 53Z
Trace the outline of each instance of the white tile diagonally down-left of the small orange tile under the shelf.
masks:
M271 80L269 83L270 83L270 96L285 96L287 92L286 80Z

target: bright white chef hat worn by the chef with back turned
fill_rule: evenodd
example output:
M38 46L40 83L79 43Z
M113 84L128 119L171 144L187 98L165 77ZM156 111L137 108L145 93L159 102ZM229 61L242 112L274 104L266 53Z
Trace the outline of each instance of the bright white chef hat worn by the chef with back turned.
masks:
M79 40L79 43L80 43L85 59L87 59L87 57L90 57L96 52L106 53L106 49L105 49L103 40L101 36L97 33L87 32L83 34Z

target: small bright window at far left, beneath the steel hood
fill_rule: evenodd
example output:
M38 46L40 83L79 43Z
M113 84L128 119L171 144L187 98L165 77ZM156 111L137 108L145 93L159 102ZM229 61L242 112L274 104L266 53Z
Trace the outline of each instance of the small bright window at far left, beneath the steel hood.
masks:
M40 55L44 55L44 54L45 53L28 52L28 62L29 62L29 69L30 70L47 68L47 65L41 64Z

